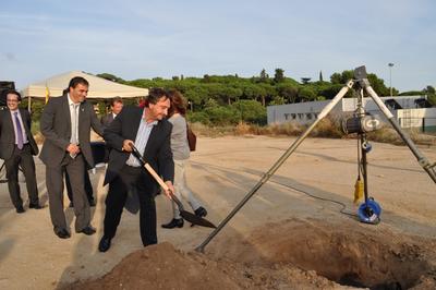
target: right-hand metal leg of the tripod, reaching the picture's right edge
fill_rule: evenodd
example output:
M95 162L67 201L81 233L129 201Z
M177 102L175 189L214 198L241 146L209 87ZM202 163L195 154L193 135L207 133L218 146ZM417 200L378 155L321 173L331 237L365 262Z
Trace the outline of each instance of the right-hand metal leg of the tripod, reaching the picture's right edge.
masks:
M436 171L435 171L435 165L431 165L428 159L421 153L421 150L416 147L416 145L413 143L413 141L410 138L410 136L401 129L401 126L398 124L396 121L393 114L389 111L389 109L386 107L386 105L383 102L380 97L377 96L377 94L374 92L374 89L371 87L371 85L367 82L361 82L361 84L364 83L364 87L371 98L377 104L378 108L380 108L382 112L386 116L386 118L389 120L390 124L393 126L393 129L398 132L400 137L404 141L404 143L409 146L410 150L413 153L413 155L416 157L417 162L424 170L428 173L428 176L433 179L433 181L436 183Z

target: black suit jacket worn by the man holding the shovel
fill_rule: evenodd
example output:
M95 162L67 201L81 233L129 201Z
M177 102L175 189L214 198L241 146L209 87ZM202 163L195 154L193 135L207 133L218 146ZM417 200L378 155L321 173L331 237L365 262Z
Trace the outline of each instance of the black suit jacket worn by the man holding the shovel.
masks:
M106 171L105 184L113 180L128 160L130 153L122 150L124 140L136 138L140 129L143 108L128 106L122 109L120 114L113 120L108 129L105 130L105 141L112 148L109 155L109 165ZM142 153L145 160L164 178L165 181L173 181L174 162L170 147L172 125L168 120L158 121L153 128L145 150ZM145 169L144 169L145 170ZM159 190L158 183L147 172L144 180L150 193Z

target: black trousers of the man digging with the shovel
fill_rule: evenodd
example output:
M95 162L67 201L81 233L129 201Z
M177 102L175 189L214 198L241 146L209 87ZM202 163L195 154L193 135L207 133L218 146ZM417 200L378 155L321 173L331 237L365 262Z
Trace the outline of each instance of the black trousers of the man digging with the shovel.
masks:
M112 239L116 235L128 194L137 194L141 239L144 246L157 243L155 194L149 192L144 180L144 168L124 166L120 174L109 183L104 222L106 238Z

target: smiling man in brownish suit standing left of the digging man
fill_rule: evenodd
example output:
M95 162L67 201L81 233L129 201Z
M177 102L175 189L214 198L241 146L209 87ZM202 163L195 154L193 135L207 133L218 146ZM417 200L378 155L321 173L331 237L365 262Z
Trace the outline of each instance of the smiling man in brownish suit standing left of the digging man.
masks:
M75 76L70 81L68 94L50 98L40 119L46 137L39 158L46 165L46 184L50 217L55 233L70 238L63 213L63 171L70 176L73 189L75 231L94 234L90 210L84 188L84 170L94 167L89 137L90 128L102 134L93 105L86 101L88 82Z

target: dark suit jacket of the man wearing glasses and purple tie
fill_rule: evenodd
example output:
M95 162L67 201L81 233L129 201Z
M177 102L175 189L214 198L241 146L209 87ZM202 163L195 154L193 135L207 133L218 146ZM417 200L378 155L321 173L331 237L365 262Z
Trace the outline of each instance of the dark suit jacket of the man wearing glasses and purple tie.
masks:
M36 145L34 136L31 132L32 119L31 114L25 109L19 109L21 119L23 120L24 131L26 132L28 144L32 147L32 154L38 155L39 149ZM0 111L0 158L9 159L12 156L15 146L15 132L11 111L9 109Z

